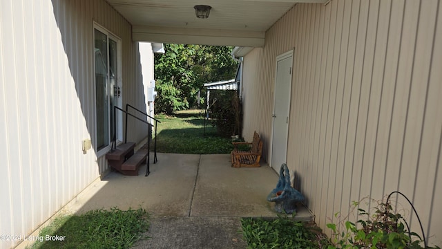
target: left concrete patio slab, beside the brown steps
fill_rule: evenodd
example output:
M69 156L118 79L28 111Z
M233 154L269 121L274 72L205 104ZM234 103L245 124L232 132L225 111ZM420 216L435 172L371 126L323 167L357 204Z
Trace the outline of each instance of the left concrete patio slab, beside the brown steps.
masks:
M189 216L200 155L157 154L149 176L146 165L138 176L111 172L106 182L77 212L98 208L121 210L144 208L155 217ZM153 156L151 156L153 160Z

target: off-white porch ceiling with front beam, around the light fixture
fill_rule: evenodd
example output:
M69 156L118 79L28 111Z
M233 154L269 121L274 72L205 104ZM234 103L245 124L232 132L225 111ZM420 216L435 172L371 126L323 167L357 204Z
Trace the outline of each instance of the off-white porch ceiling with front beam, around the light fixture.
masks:
M106 0L133 25L133 40L262 47L265 31L295 3L327 0ZM208 19L195 5L212 7Z

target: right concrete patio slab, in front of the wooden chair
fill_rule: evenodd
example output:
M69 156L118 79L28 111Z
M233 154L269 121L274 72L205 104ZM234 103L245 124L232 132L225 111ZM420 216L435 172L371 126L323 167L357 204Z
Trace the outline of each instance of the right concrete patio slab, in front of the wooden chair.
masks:
M229 154L202 155L191 216L275 216L266 198L277 182L270 167L234 168Z

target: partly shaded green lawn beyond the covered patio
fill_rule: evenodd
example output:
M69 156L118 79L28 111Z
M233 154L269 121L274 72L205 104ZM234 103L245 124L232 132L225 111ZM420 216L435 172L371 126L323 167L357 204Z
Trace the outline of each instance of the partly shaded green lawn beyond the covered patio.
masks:
M218 136L216 128L206 121L204 111L177 111L174 116L157 114L157 152L177 154L229 154L231 138ZM152 145L153 146L153 145Z

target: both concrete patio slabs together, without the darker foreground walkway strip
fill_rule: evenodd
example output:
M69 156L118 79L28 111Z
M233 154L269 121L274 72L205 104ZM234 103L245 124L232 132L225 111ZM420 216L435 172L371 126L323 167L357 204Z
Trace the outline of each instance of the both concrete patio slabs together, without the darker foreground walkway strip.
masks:
M229 154L157 154L149 176L146 165L138 176L111 172L90 185L66 205L66 212L99 208L144 208L153 217L276 217L267 194L276 187L278 174L261 167L233 168ZM153 156L151 156L153 160ZM311 221L300 208L296 218Z

